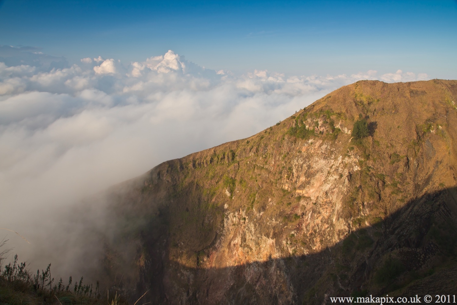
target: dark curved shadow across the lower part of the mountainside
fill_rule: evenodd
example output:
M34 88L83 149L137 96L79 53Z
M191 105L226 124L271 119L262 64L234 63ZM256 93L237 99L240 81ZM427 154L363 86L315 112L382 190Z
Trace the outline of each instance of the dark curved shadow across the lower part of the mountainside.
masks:
M166 230L149 240L143 232L154 255L136 290L150 289L153 304L330 304L335 296L455 294L456 194L451 187L415 198L324 251L227 268L167 261L158 246ZM161 213L164 221L170 217Z

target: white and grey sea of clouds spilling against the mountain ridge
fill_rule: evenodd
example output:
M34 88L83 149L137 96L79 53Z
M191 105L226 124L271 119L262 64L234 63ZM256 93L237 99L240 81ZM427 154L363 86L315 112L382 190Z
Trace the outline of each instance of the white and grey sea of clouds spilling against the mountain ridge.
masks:
M255 134L354 81L428 79L401 70L234 75L173 51L130 64L98 57L69 66L33 49L1 50L8 56L0 63L0 222L30 245L1 233L32 268L52 262L62 276L96 263L96 237L114 230L101 195L108 187Z

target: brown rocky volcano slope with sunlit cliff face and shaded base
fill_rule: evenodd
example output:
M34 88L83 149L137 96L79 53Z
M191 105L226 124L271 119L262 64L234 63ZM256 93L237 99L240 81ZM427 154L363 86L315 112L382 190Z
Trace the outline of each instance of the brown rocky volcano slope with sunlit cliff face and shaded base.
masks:
M358 81L112 187L100 274L153 304L455 294L456 101L456 80Z

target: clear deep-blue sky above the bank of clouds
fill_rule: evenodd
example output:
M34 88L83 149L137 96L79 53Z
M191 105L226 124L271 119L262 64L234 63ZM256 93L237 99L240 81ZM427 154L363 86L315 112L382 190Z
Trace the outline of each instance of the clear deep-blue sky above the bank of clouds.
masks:
M70 62L169 49L215 70L337 75L397 69L457 78L457 1L21 1L0 44Z

